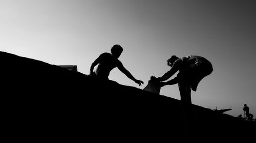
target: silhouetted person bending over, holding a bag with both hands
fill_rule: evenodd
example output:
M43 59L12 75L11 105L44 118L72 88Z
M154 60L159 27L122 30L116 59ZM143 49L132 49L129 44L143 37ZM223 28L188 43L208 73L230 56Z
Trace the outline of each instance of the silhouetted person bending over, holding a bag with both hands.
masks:
M211 63L198 55L189 55L182 58L172 55L167 60L167 65L172 68L163 76L158 77L158 81L167 80L177 71L179 73L172 80L161 82L161 87L178 83L181 101L189 104L191 104L191 89L197 91L199 82L213 71Z

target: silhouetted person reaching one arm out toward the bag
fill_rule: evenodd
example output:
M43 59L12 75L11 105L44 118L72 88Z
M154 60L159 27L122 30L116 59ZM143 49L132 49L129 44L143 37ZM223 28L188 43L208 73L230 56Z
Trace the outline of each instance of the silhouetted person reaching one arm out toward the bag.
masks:
M90 75L102 79L109 79L110 71L114 68L118 68L122 73L124 73L128 78L136 82L137 84L143 84L143 81L137 80L128 70L126 70L118 60L119 56L121 55L123 48L120 45L114 45L111 48L111 53L102 53L99 57L92 63L90 68ZM94 70L94 67L96 70Z

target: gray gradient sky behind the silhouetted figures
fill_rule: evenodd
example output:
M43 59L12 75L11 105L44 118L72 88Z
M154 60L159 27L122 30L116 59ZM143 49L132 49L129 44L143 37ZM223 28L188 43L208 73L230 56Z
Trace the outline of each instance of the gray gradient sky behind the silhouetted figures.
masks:
M192 102L232 108L225 113L235 117L246 103L255 117L255 7L245 0L0 0L0 50L89 74L99 54L120 44L119 60L145 83L139 87L118 69L109 78L141 89L169 70L171 55L201 55L214 72L191 93ZM160 94L180 99L178 85Z

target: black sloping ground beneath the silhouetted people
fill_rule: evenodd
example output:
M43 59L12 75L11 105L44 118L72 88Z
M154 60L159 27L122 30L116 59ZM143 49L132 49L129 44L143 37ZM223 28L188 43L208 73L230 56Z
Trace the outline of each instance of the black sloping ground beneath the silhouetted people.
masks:
M2 129L9 140L207 142L255 134L255 122L115 81L6 52L0 61Z

